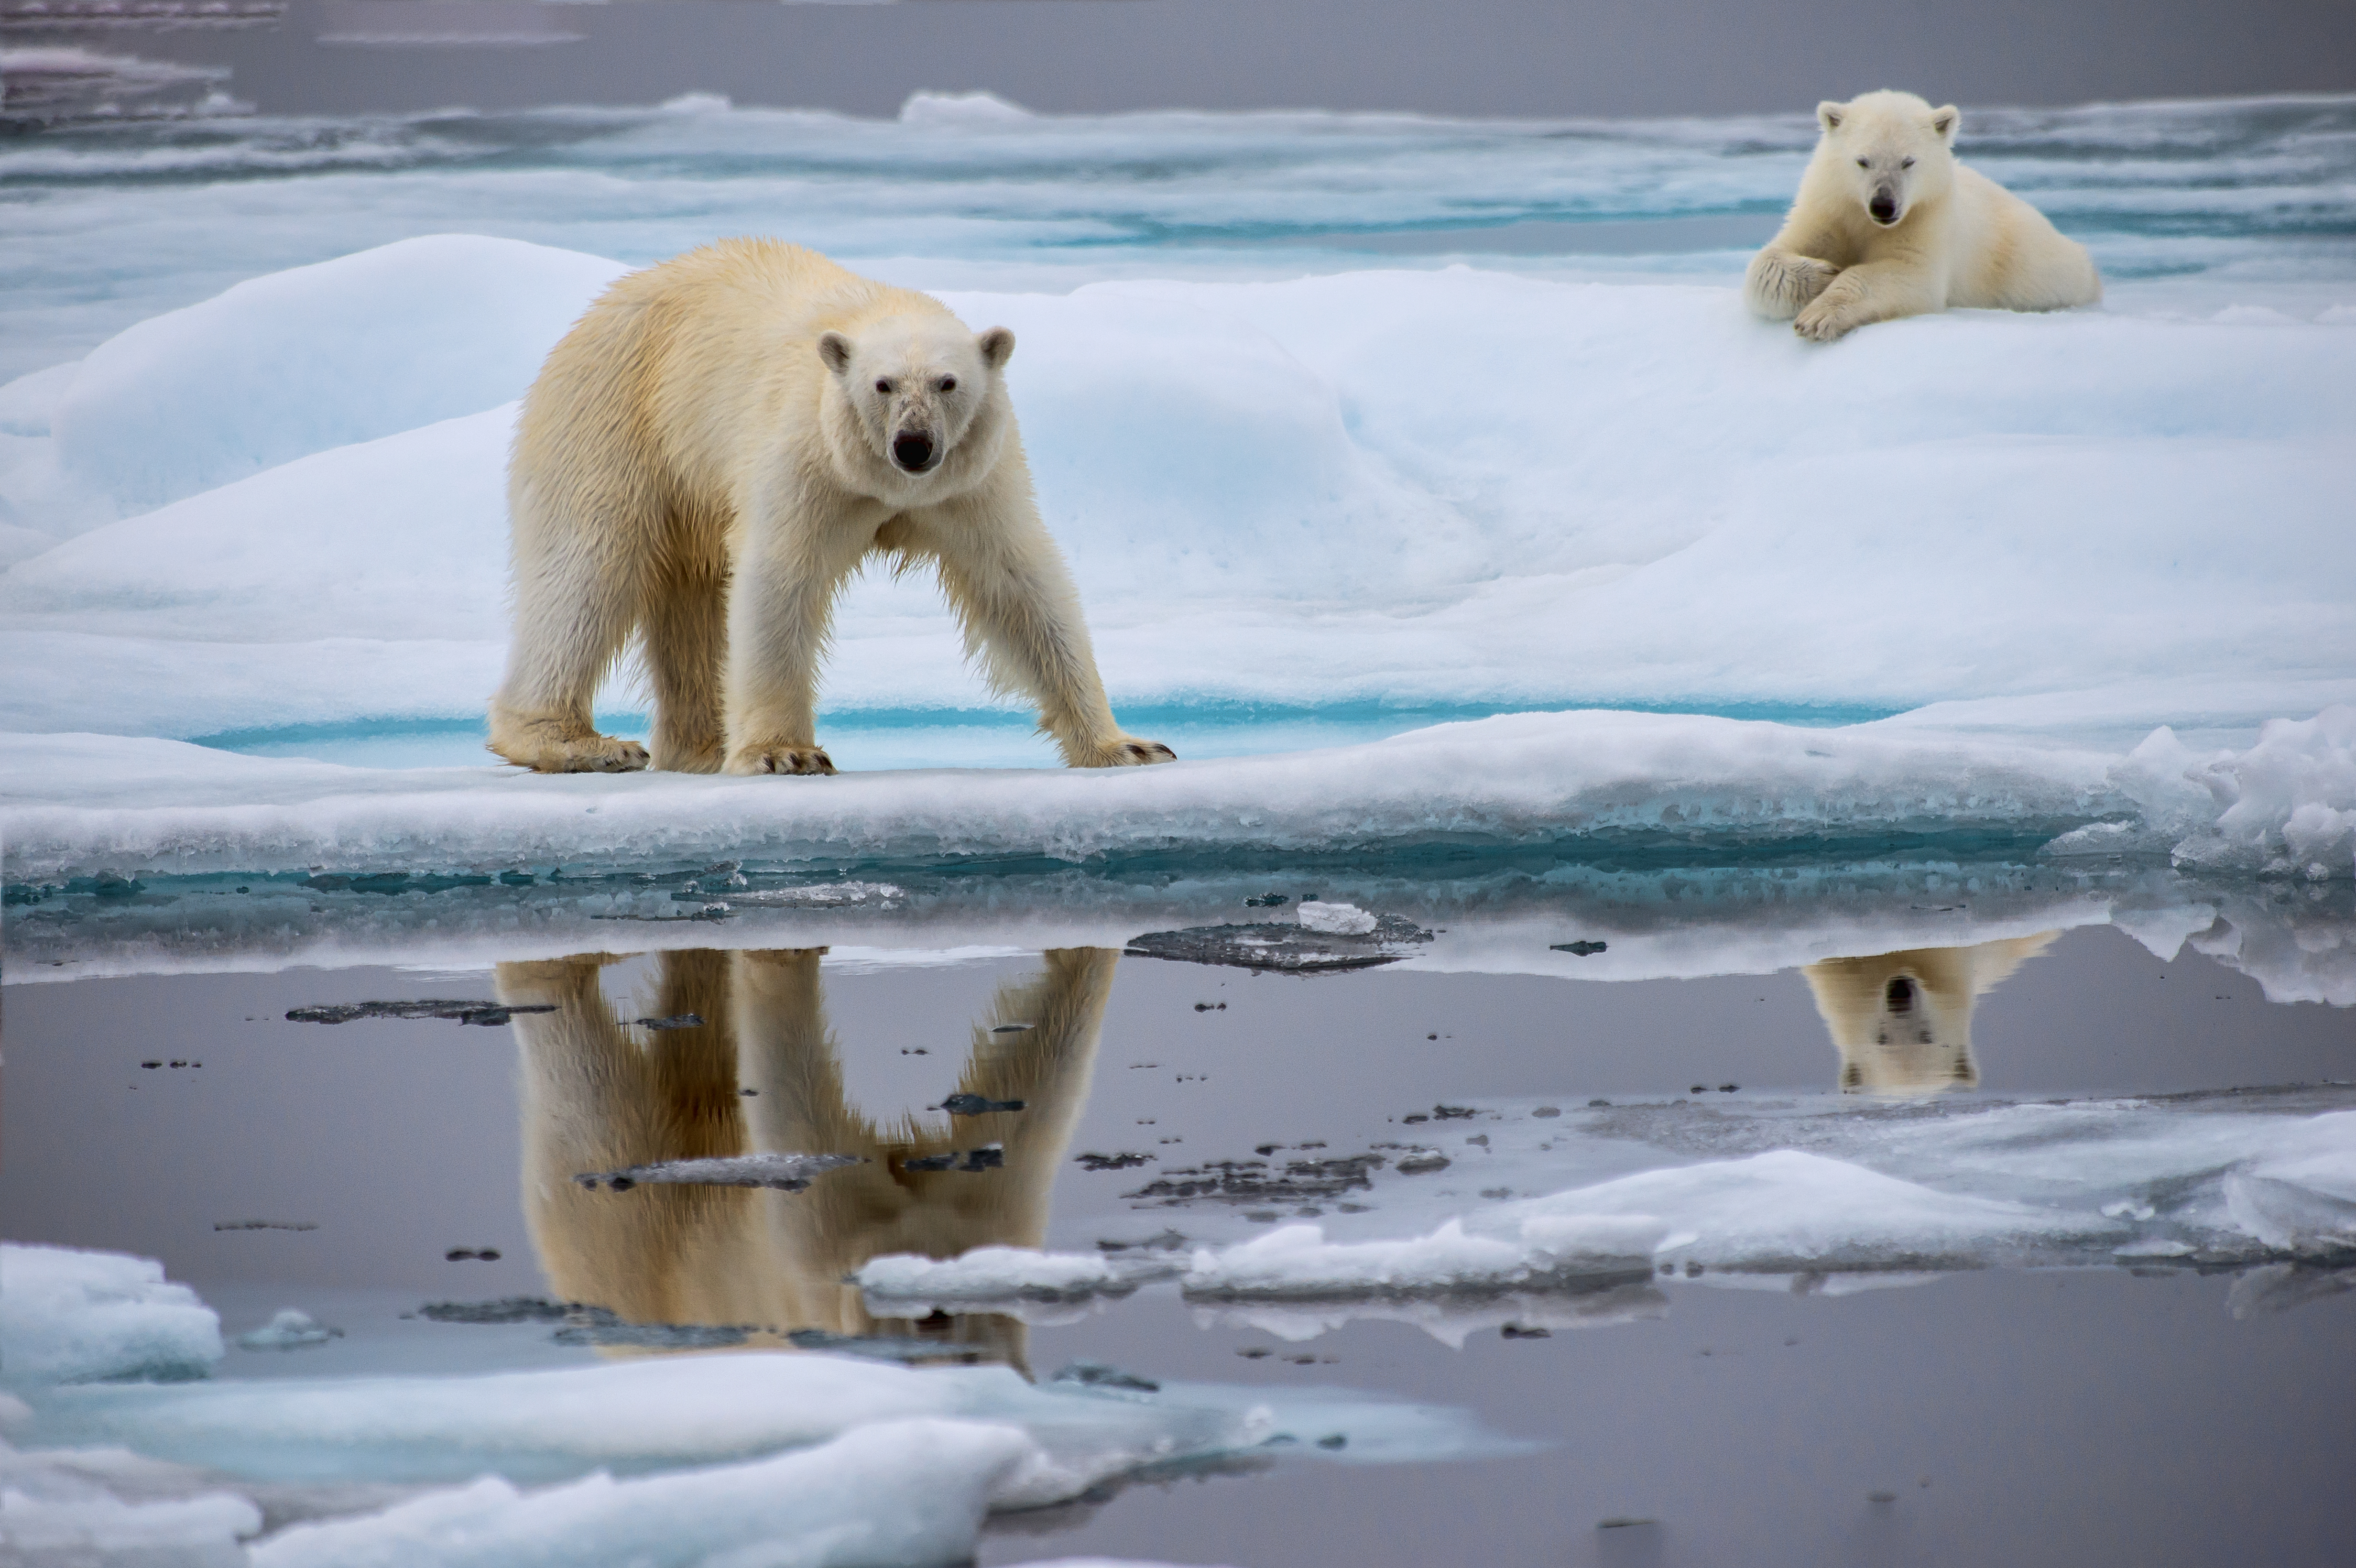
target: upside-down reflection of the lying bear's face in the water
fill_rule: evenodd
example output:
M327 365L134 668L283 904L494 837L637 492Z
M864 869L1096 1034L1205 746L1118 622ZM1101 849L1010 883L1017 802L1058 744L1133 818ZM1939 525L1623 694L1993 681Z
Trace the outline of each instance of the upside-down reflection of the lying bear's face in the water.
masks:
M1816 1012L1840 1048L1845 1095L1937 1095L1977 1088L1972 1005L2059 932L1979 946L1920 946L1807 965Z

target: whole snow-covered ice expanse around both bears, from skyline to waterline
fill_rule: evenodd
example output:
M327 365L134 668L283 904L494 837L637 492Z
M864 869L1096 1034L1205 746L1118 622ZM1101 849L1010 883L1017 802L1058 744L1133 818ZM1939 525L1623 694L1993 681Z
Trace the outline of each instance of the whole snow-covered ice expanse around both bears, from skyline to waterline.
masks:
M1890 323L1835 351L1743 315L1736 240L1612 259L1579 238L1772 221L1805 115L1060 120L921 99L867 125L690 99L459 141L424 118L155 129L127 160L7 148L0 179L64 181L26 212L7 306L52 358L0 388L7 876L631 859L747 822L756 843L1091 855L1171 808L1180 841L1350 845L1583 831L1659 800L1732 836L1953 815L2347 878L2349 720L2325 711L2356 702L2356 259L2309 235L2316 202L2344 202L2349 113L1981 115L1977 158L2094 242L2109 308ZM462 146L507 146L532 193ZM2135 162L2156 146L2205 151ZM254 177L290 167L311 179L280 207ZM111 181L158 170L193 184L139 188L148 250L123 259ZM1491 723L1277 775L1025 782L1041 808L1020 822L964 779L740 793L302 760L403 735L471 753L502 662L514 398L622 266L773 228L787 170L808 224L789 238L1018 332L1041 504L1140 730L1218 756L1268 749L1270 711L1381 732L1633 704L1786 727ZM1091 170L1077 212L1072 170ZM978 207L938 207L952 174ZM198 224L184 200L207 181L276 217ZM655 200L617 217L613 181ZM1430 235L1468 200L1477 266L1359 242ZM2210 238L2182 235L2189 202L2215 210ZM1524 245L1531 224L1567 250ZM879 756L1048 760L992 727L931 584L858 584L836 643L827 723L905 737ZM629 671L605 706L643 706ZM2259 739L2264 720L2314 735ZM2156 725L2182 758L2127 756ZM172 744L196 739L269 756ZM1875 749L1885 789L1793 775L1812 751L1840 775L1847 746ZM1411 815L1369 777L1402 763Z

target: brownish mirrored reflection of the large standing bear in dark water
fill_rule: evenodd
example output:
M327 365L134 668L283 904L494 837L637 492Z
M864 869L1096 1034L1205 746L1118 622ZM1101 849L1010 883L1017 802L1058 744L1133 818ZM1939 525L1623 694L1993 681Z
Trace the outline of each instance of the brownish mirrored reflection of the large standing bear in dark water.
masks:
M971 1342L1023 1366L1013 1318L921 1326L867 1316L843 1276L881 1253L957 1257L1039 1245L1048 1189L1088 1097L1119 954L1046 954L1046 972L999 986L973 1029L961 1092L1023 1111L912 1116L876 1128L843 1099L818 951L662 954L648 1015L702 1026L627 1029L598 989L610 956L502 963L499 1001L523 1052L523 1208L549 1285L627 1323L742 1323L775 1342L796 1328ZM992 1034L997 1024L1030 1024ZM754 1090L744 1095L742 1090ZM1004 1144L1004 1168L909 1170L912 1161ZM862 1154L808 1191L653 1187L587 1191L587 1170L730 1154Z

